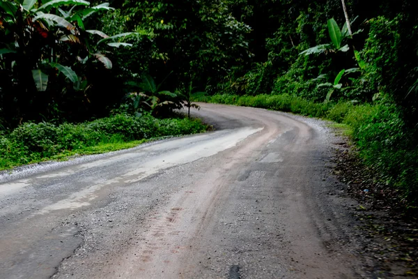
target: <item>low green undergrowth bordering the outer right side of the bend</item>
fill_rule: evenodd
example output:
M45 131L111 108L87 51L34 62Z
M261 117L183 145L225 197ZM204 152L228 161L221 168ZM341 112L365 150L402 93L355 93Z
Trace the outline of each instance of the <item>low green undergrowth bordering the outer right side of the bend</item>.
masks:
M381 183L398 189L406 208L418 205L418 149L416 131L401 120L395 105L351 102L314 103L288 94L257 96L215 95L209 103L260 107L330 119L344 127L366 165L376 170Z

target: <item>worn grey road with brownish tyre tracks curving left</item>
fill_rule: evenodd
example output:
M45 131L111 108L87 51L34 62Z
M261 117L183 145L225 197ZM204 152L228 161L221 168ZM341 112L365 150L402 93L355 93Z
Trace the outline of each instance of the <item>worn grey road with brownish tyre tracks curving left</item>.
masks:
M318 121L193 115L215 132L0 174L0 278L358 278Z

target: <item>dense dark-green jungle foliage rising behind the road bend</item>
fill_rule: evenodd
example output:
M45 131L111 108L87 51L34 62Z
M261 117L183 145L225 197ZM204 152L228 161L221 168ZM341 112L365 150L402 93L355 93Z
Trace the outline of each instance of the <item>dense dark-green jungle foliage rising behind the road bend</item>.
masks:
M415 4L0 0L1 133L162 117L223 94L212 100L348 123L366 163L417 206Z

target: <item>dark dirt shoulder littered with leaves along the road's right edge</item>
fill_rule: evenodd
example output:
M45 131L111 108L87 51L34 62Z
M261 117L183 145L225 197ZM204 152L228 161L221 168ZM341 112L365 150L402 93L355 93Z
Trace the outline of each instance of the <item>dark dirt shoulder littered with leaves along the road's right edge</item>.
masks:
M341 134L334 128L334 133ZM394 188L379 182L378 173L366 167L348 137L334 144L333 173L347 185L347 197L358 204L348 207L357 218L364 269L373 278L418 278L418 220L405 213Z

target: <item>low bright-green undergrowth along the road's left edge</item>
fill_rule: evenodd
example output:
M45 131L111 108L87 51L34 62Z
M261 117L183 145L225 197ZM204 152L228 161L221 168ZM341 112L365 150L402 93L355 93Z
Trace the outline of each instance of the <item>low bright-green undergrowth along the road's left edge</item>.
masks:
M91 122L24 123L0 134L0 169L65 159L75 154L93 154L127 149L147 140L171 135L201 133L199 119L157 119L145 114L118 114Z

